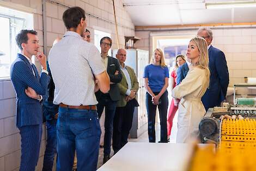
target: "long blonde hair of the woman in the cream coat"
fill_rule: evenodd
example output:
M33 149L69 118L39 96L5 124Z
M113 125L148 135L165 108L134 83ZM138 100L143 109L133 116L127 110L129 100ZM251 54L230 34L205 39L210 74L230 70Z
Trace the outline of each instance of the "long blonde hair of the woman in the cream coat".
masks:
M195 38L191 39L190 42L193 42L196 44L200 54L199 59L196 64L193 64L194 66L197 66L200 69L205 70L206 78L207 78L207 87L209 87L210 83L210 70L209 70L209 56L208 56L208 47L205 39L200 38L196 36Z

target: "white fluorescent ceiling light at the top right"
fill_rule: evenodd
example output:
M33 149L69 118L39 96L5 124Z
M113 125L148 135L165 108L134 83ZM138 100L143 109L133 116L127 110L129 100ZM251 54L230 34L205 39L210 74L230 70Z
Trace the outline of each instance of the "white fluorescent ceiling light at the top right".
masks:
M206 9L256 7L256 1L233 1L205 3Z

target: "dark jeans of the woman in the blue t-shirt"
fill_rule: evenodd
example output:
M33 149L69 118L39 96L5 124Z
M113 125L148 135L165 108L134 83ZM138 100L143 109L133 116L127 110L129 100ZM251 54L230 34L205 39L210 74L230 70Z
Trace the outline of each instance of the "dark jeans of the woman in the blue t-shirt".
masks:
M155 95L159 92L154 92ZM148 112L148 134L149 142L156 142L155 132L155 118L156 118L156 106L159 108L160 125L161 125L161 142L167 143L167 109L168 109L168 91L165 91L160 97L161 104L153 105L152 97L149 93L146 94L146 107Z

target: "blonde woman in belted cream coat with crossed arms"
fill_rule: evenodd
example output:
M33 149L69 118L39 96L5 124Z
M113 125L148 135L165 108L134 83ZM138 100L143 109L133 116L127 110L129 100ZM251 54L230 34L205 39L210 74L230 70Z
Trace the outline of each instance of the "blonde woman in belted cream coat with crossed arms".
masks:
M187 143L189 139L199 136L198 125L205 114L201 101L209 87L210 71L206 41L193 38L187 48L187 58L191 59L191 68L182 82L172 90L179 102L177 143Z

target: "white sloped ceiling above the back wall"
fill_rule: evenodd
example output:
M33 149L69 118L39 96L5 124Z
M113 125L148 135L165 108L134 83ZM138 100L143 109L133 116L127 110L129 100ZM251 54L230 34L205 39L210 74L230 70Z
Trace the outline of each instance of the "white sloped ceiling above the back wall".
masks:
M205 3L230 2L232 0L122 1L135 26L256 22L256 7L233 9L205 8Z

